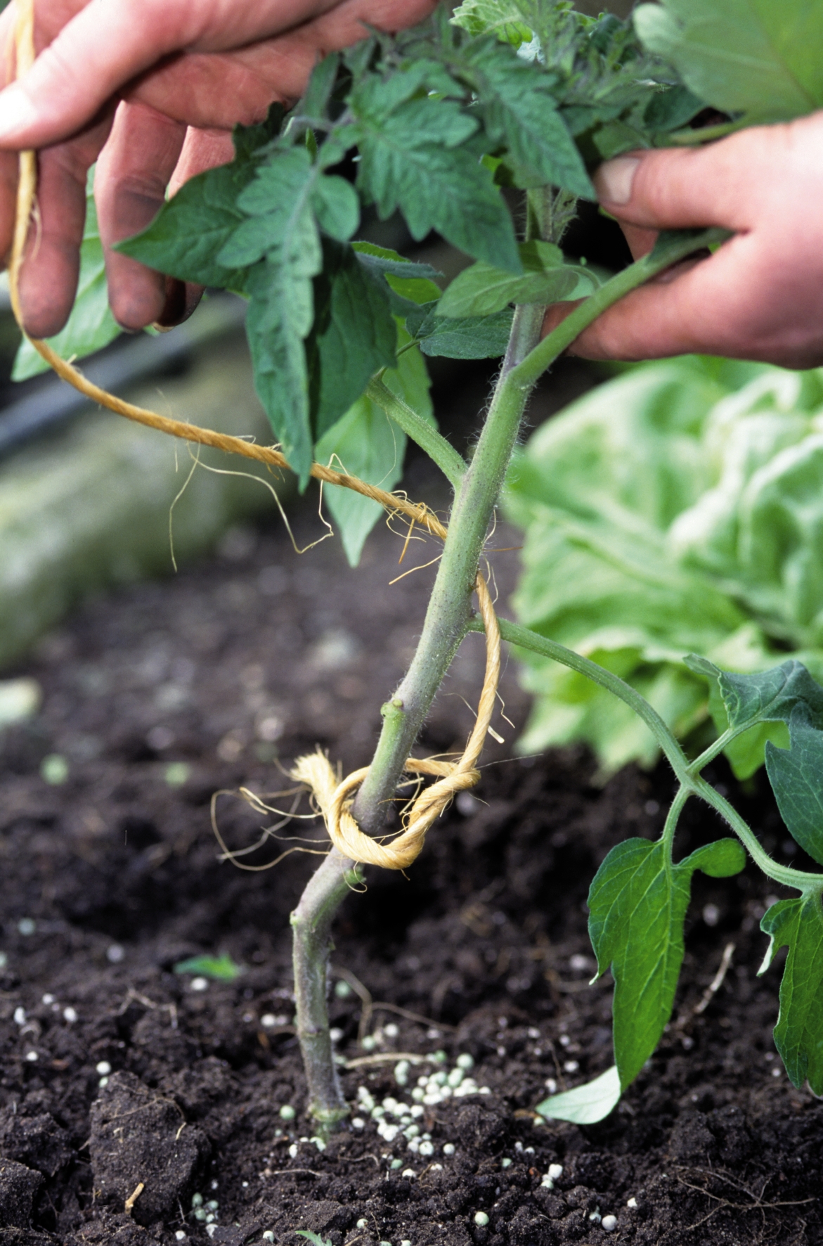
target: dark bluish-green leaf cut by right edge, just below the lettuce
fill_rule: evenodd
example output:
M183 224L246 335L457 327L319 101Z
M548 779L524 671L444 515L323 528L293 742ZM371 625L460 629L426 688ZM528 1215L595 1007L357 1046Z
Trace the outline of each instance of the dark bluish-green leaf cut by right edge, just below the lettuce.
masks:
M788 730L788 749L766 745L766 773L789 835L823 865L823 731L806 705L794 708Z

